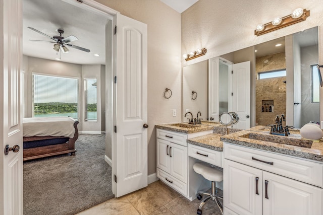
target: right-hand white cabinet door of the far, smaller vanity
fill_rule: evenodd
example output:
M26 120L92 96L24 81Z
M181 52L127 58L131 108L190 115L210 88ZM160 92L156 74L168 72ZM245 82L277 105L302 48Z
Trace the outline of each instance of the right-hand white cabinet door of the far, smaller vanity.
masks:
M187 183L187 147L173 144L171 142L170 159L170 174L184 183Z

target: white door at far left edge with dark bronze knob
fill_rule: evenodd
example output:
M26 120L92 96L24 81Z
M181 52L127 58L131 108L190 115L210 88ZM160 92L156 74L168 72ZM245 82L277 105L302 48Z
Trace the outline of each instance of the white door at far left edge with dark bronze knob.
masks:
M22 3L21 0L2 0L0 8L3 21L0 27L3 33L0 43L0 214L11 215L23 214ZM12 151L5 155L7 145Z

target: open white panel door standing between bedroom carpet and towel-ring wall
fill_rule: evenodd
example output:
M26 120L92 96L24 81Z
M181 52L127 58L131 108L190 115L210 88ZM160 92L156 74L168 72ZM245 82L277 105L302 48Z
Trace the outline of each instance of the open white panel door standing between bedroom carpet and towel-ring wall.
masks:
M116 197L147 186L147 25L117 14ZM113 153L114 154L114 153Z

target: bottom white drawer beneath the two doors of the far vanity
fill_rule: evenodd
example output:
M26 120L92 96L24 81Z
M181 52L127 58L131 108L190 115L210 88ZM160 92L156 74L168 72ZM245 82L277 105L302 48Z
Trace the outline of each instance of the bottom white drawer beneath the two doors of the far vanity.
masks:
M170 174L164 172L163 170L160 170L159 168L157 168L156 175L160 179L160 181L163 181L182 195L187 196L187 184L176 179Z

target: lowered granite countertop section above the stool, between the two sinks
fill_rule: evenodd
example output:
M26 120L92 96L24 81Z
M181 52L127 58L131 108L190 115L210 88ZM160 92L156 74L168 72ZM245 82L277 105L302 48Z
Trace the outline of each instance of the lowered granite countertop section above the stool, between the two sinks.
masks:
M188 144L196 145L210 150L223 151L223 141L220 137L223 134L220 133L210 133L203 136L198 136L194 138L187 139Z

